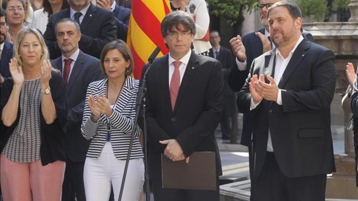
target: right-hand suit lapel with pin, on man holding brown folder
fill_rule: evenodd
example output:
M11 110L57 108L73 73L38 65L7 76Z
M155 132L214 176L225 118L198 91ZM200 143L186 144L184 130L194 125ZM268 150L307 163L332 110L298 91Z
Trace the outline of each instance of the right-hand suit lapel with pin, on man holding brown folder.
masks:
M199 67L199 61L197 59L197 55L192 52L192 55L190 55L190 59L187 65L187 68L185 69L184 76L182 83L179 87L178 97L176 97L175 101L175 107L173 113L175 113L176 108L178 108L178 105L180 104L180 100L183 98L183 95L185 93L185 90L187 89L190 80L193 78L193 75L195 74L195 70Z

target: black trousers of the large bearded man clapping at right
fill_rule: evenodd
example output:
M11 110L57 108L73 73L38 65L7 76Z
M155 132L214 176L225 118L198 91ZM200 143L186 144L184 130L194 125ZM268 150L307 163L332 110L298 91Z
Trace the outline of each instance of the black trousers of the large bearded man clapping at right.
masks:
M286 177L274 153L266 152L265 164L255 178L254 201L324 201L326 175Z

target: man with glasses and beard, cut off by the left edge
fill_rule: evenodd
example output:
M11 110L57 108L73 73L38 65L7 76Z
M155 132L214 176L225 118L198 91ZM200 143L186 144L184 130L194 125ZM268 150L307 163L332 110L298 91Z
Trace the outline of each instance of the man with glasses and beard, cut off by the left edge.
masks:
M13 44L6 40L8 29L6 25L6 13L3 8L0 11L0 70L1 70L1 81L4 82L4 78L10 77L9 63L10 59L13 58Z

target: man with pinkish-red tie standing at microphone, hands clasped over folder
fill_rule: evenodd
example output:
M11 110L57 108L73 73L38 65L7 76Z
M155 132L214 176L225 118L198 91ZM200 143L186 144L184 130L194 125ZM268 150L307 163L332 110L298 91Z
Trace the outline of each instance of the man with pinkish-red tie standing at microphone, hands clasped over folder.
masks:
M214 137L222 111L222 65L190 50L195 31L184 11L165 16L161 33L169 54L154 60L146 75L149 173L156 201L219 200L218 182L216 191L162 187L161 154L188 161L193 152L216 152L217 180L222 174Z

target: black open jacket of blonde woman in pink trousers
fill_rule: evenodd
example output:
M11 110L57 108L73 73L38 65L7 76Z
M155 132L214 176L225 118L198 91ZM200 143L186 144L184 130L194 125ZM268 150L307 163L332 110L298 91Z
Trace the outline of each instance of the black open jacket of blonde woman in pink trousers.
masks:
M57 118L52 124L47 124L42 115L40 107L40 156L41 163L43 166L54 161L66 161L66 154L64 151L64 126L66 124L66 91L65 84L63 82L62 76L57 71L51 72L51 79L49 82L51 88L51 96L55 104L56 116ZM10 94L13 90L14 82L12 78L5 79L4 83L1 85L1 114L6 103L9 100ZM7 127L1 121L1 147L0 151L3 152L3 149L6 143L9 140L10 135L13 133L14 129L18 125L20 120L20 104L18 109L18 114L15 122Z

